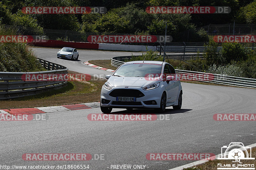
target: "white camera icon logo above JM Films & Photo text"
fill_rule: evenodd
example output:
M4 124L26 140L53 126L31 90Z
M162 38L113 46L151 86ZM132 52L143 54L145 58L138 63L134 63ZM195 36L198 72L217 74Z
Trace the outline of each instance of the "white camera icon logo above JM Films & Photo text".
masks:
M252 148L245 147L242 142L231 142L221 147L221 158L217 159L255 159L252 158Z

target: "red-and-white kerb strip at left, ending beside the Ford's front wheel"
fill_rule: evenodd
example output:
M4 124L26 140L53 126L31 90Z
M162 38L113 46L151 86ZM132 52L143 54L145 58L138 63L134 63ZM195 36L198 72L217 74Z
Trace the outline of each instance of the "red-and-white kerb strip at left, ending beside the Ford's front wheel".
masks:
M71 104L62 106L37 107L37 108L23 108L23 109L4 109L0 110L1 117L9 117L17 114L38 114L51 113L60 111L83 110L92 109L100 106L100 102Z

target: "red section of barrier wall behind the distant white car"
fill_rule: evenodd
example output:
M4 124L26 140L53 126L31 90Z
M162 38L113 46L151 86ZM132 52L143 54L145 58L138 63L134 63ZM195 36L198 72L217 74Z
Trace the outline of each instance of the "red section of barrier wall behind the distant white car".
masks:
M69 41L60 41L60 40L47 40L47 42L33 42L34 46L42 47L72 47L79 49L99 49L99 43L89 43L89 42L69 42Z

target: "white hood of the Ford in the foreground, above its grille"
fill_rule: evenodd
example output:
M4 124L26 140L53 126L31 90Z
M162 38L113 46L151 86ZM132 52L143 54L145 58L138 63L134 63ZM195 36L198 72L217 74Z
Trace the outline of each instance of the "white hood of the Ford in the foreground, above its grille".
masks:
M159 83L160 81L149 81L145 80L144 77L117 77L111 76L108 79L109 84L113 86L136 86L136 87L145 87L152 83Z

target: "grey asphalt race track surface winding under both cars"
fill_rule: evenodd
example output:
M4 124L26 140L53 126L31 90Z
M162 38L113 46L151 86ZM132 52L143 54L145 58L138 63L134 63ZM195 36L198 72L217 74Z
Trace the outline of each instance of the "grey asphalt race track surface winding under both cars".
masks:
M102 70L82 65L84 58L79 56L81 61L74 62L57 59L55 54L49 55L53 50L55 49L36 48L34 51L36 54L44 54L45 57L40 58L63 64L69 70L81 72L80 69L87 74L101 74ZM94 59L107 59L122 53L85 52L88 60L92 60L94 56ZM97 54L94 55L95 53ZM181 84L182 109L176 111L169 107L162 114L169 116L170 120L89 121L88 114L101 113L100 108L94 108L48 113L47 121L1 121L1 165L82 164L89 165L91 170L103 170L110 169L111 165L130 164L146 165L145 169L148 170L167 170L193 161L147 160L147 153L217 155L221 152L221 147L230 142L243 142L245 146L256 143L255 121L213 120L216 113L255 114L255 89ZM111 112L121 113L156 114L155 110L113 109ZM104 154L104 160L25 161L22 159L24 153L90 153L93 159L94 154Z

